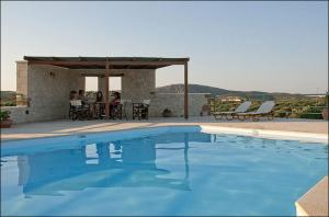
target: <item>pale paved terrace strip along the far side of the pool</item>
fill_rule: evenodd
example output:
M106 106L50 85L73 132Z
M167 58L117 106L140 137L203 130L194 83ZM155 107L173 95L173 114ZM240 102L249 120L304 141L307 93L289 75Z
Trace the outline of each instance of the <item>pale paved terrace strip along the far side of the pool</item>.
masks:
M284 132L302 132L328 135L328 122L297 118L274 118L274 121L216 121L212 116L150 118L148 121L54 121L13 125L1 129L1 140L15 140L73 134L88 134L107 130L131 129L140 127L157 127L172 125L212 125L222 127L271 129Z

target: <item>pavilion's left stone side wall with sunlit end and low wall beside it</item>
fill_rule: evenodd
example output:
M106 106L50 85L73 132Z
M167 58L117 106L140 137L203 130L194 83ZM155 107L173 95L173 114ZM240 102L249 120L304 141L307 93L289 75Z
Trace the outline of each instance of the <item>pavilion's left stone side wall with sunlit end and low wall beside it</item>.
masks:
M55 66L18 62L18 92L29 99L29 106L3 107L11 111L14 123L68 117L69 93L84 90L84 77Z

